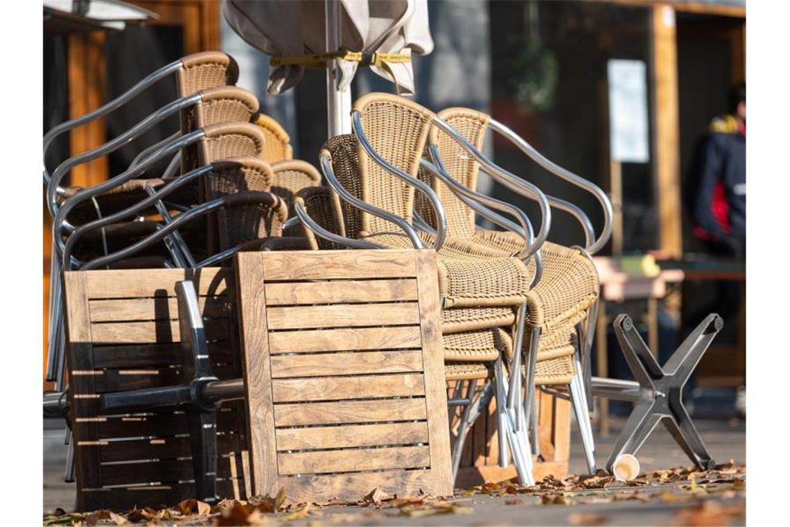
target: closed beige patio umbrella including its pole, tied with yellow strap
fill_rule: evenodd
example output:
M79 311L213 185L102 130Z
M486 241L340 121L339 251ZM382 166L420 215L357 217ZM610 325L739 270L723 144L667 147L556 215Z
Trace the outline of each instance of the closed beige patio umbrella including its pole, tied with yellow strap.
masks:
M273 95L291 88L315 57L346 50L371 54L398 54L372 60L371 70L397 85L404 94L414 92L412 51L427 55L434 43L428 27L427 0L223 0L225 19L247 43L273 57L267 91ZM289 58L298 58L288 60ZM390 59L388 59L390 58ZM327 67L329 135L351 132L349 113L356 60L331 58Z

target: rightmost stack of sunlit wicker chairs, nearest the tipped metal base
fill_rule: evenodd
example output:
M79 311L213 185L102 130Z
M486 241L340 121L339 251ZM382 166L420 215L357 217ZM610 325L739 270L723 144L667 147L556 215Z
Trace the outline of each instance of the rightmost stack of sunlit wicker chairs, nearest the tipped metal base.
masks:
M604 205L604 213L606 213L608 201L597 187L589 182L581 182L578 176L570 175L567 171L545 160L543 156L536 154L536 151L529 147L525 141L515 137L506 127L497 122L492 125L490 116L467 108L449 108L439 112L438 117L478 149L482 148L488 130L493 129L505 134L511 141L515 141L519 148L529 153L533 159L537 157L544 167L595 194L596 198ZM448 134L442 133L438 127L431 130L429 143L436 145L436 151L441 157L446 171L458 183L474 190L480 164L468 156L465 150L457 144L457 141L454 141ZM431 186L442 199L446 214L451 219L448 221L448 230L453 235L491 249L501 250L502 254L515 254L519 250L520 239L512 232L477 228L475 210L458 198L453 190L450 190L440 179L431 177L427 171L422 171L420 177L430 181ZM595 265L592 264L589 257L589 251L594 251L605 243L605 237L608 237L605 235L607 228L604 227L604 235L600 239L593 241L592 227L580 209L555 198L550 198L549 201L551 205L577 217L582 228L585 229L588 247L586 249L569 248L551 242L546 242L541 246L540 253L544 267L540 281L529 292L528 326L530 338L525 340L525 352L528 352L530 358L536 361L534 372L530 372L529 375L534 376L537 386L566 385L568 387L574 403L577 422L581 428L588 468L591 473L594 473L594 444L587 401L589 383L582 380L580 355L585 358L589 356L589 344L591 344L589 337L592 335L592 326L595 323L594 316L597 313L596 302L599 293L598 275ZM418 203L417 206L422 216L425 216L429 221L433 220L431 209L426 204ZM609 206L611 207L611 205ZM531 265L534 263L531 262ZM582 338L584 338L584 342L581 342ZM589 363L589 361L585 360L585 363ZM529 401L526 404L529 405ZM528 408L527 412L532 412L532 415L535 415L533 408ZM535 445L533 444L533 446Z

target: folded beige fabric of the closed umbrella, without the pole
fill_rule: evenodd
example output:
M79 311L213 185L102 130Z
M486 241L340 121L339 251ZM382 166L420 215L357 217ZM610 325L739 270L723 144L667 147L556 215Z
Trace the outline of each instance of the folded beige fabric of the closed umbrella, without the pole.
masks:
M427 0L339 0L341 47L363 53L427 55L434 49L428 27ZM222 13L231 28L266 55L320 54L326 49L325 0L223 0ZM351 84L358 62L340 62L340 83ZM397 82L401 92L414 92L410 62L391 62L377 75ZM304 66L273 66L266 90L277 95L302 78Z

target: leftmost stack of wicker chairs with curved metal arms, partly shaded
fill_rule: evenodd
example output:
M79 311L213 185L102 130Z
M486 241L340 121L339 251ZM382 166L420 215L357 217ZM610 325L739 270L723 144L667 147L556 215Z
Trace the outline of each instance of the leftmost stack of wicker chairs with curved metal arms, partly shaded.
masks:
M177 73L178 100L105 145L64 161L51 175L44 172L55 234L48 375L58 391L65 379L61 269L201 268L228 262L238 250L278 248L288 202L273 192L275 183L288 196L320 179L303 161L276 167L265 161L271 152L265 131L250 122L260 117L258 101L228 85L237 71L221 53L183 58L152 73L92 114L51 130L45 149L58 134L125 104L169 73ZM145 149L126 171L88 188L62 185L74 167L134 141L175 112L181 130ZM167 170L152 174L161 160L170 160ZM71 455L68 465L70 479Z

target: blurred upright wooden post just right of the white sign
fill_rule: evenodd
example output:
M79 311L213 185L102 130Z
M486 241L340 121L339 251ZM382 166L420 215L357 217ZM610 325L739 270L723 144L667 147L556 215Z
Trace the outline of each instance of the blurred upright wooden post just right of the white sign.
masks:
M683 253L683 207L680 199L680 125L678 53L675 9L653 6L651 81L653 84L654 151L658 201L659 248Z

